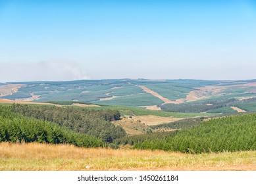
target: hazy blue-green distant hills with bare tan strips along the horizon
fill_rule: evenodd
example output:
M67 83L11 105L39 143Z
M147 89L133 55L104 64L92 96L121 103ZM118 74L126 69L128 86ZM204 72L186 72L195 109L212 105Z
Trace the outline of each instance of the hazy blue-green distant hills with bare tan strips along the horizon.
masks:
M137 106L174 112L254 111L255 97L256 80L120 79L28 81L0 85L0 98L13 101L66 101L69 104ZM192 104L193 109L188 109Z

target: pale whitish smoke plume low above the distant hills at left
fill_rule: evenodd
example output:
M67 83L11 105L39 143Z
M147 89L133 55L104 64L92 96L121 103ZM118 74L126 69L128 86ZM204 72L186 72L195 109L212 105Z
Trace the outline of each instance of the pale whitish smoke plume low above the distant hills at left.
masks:
M0 82L88 80L85 68L67 61L0 64Z

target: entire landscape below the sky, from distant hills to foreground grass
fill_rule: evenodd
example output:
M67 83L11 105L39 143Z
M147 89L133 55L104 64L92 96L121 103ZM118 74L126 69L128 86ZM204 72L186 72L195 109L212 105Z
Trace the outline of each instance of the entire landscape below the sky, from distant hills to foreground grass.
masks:
M255 170L255 83L2 83L0 170Z

